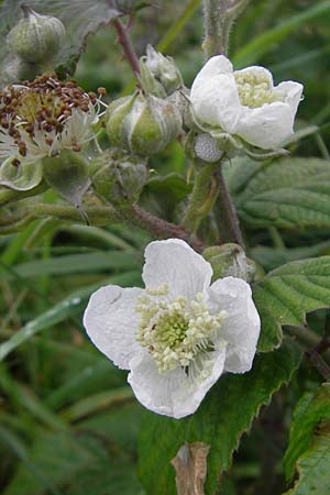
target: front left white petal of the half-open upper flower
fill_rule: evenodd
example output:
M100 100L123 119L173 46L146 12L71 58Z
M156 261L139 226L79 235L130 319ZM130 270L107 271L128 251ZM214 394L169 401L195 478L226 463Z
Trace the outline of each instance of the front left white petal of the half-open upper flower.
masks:
M212 77L191 89L190 100L198 122L234 133L241 103L232 74Z

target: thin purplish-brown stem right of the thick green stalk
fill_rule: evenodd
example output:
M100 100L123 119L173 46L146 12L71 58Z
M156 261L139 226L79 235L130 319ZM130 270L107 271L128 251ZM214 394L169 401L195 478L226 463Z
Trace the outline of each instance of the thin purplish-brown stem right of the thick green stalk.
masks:
M226 242L235 242L244 249L239 218L223 177L222 166L218 167L216 177L219 185L219 196L215 213L220 238Z

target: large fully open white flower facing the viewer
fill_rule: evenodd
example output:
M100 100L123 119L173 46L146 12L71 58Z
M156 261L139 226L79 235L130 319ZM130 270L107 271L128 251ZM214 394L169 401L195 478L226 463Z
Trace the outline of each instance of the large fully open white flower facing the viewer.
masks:
M142 276L145 289L97 290L84 324L101 352L130 370L143 406L182 418L198 408L223 372L251 369L258 314L244 280L211 284L211 265L177 239L147 245Z

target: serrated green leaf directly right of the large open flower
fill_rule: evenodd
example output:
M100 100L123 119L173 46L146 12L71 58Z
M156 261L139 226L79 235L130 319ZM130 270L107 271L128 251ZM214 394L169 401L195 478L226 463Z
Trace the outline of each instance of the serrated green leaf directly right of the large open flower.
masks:
M330 306L330 256L293 262L274 270L253 285L261 317L258 351L280 344L282 326L301 327L306 314Z

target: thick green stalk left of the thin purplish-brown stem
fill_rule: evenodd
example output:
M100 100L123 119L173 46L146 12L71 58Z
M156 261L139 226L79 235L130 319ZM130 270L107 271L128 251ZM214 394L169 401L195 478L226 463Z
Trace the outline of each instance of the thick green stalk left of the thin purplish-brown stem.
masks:
M204 217L212 209L218 196L215 174L219 163L196 162L196 175L183 228L196 233Z

